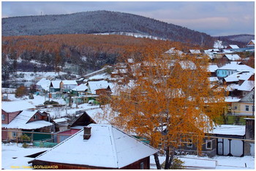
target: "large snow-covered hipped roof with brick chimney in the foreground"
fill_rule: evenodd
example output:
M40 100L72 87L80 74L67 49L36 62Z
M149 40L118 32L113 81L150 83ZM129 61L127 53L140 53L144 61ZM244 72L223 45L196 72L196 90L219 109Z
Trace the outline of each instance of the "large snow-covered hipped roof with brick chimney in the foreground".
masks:
M54 146L34 160L121 168L157 153L157 149L108 124L89 124L91 138L83 130Z

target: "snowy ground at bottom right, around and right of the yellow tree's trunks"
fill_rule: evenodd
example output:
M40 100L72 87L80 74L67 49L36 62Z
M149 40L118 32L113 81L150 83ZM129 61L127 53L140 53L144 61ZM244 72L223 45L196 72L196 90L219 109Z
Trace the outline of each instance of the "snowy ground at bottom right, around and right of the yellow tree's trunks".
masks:
M178 159L184 162L186 169L211 169L211 170L254 170L254 156L178 156ZM165 162L165 156L159 156L159 162ZM151 169L157 169L154 156L150 156Z

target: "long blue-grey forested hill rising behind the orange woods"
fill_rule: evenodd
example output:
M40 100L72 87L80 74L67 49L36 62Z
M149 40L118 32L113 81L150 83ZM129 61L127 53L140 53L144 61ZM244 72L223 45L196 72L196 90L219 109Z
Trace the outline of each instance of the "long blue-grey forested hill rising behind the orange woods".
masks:
M140 33L208 47L214 44L214 39L206 33L122 12L95 11L2 19L2 36L112 32Z

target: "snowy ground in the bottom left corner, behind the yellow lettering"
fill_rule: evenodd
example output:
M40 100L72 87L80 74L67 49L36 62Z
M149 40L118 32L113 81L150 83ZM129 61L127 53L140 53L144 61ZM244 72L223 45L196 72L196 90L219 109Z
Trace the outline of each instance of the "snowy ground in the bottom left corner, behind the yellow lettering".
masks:
M50 148L22 148L22 143L1 144L1 169L3 170L28 170L32 164L28 164L33 158L25 157L36 154Z

